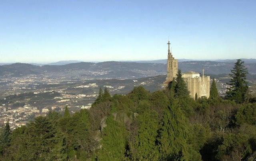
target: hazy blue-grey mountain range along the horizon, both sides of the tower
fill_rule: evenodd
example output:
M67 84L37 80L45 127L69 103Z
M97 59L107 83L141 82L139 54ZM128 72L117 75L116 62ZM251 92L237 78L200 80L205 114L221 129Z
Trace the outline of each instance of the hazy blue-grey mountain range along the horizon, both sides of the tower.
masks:
M236 60L216 60L216 61L186 61L187 59L181 59L178 64L178 68L182 72L196 71L201 73L204 68L206 74L218 75L222 73L230 73L230 69L234 67ZM248 68L249 73L255 74L256 72L256 59L242 59L244 65ZM74 63L72 63L74 62ZM164 63L165 62L165 63ZM63 64L63 65L61 65ZM51 72L70 72L73 71L91 71L91 72L104 72L106 71L111 77L129 75L129 77L144 77L163 75L166 73L166 60L156 61L129 61L129 62L117 62L107 61L101 63L86 63L79 61L60 61L57 63L51 63L50 65L32 65L26 63L14 63L9 65L0 65L1 76L13 76L18 77L22 75L39 75L47 74ZM144 74L146 73L146 74ZM84 73L86 75L86 73ZM108 76L106 75L106 76ZM81 76L83 76L81 74Z

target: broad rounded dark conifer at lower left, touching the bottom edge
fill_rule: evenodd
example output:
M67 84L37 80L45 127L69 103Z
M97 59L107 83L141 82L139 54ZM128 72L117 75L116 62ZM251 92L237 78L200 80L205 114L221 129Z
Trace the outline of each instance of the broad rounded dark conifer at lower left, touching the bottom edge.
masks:
M58 133L56 124L51 120L42 116L35 118L35 121L31 122L26 128L24 143L20 148L26 150L18 151L22 153L22 160L63 159L65 139L63 135L56 137L58 134L61 133Z

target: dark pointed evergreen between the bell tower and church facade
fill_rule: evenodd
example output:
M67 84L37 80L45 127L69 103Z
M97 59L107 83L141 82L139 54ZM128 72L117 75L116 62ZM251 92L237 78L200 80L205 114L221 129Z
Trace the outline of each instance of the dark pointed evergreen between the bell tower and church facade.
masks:
M182 78L181 70L178 70L178 73L176 75L176 85L175 85L175 97L189 97L189 91L186 86L186 82Z

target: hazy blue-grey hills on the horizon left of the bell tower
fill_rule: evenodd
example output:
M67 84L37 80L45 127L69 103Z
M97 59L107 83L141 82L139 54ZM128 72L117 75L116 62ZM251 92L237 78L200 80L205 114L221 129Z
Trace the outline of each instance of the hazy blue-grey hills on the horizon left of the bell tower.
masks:
M127 75L127 71L133 73L139 73L143 77L143 71L147 73L152 73L152 75L158 75L163 70L166 70L165 65L160 63L132 63L132 62L116 62L108 61L102 63L71 63L66 65L31 65L26 63L14 63L11 65L0 66L1 76L24 76L24 75L39 75L39 74L49 74L52 72L57 73L76 73L77 71L90 71L90 73L104 73L108 75L116 73L119 75ZM123 71L123 72L122 72ZM81 73L81 72L80 72ZM154 74L153 74L154 73ZM84 72L86 75L86 72ZM108 75L105 75L108 77ZM136 75L138 77L138 75ZM150 76L150 75L146 75ZM135 76L134 76L135 77Z

